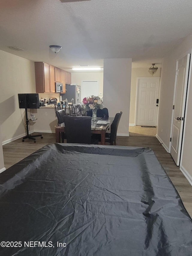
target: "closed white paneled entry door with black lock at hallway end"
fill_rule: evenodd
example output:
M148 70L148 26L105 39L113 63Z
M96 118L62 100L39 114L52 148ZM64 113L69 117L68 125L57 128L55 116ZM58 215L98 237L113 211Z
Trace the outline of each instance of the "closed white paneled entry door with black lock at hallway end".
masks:
M159 81L159 77L138 79L136 125L157 125Z

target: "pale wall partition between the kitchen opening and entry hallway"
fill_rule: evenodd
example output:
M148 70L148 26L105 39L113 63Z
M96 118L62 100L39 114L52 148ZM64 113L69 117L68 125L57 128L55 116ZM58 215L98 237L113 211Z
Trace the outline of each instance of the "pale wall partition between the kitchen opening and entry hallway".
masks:
M129 136L132 59L104 59L103 102L109 116L122 111L118 135Z

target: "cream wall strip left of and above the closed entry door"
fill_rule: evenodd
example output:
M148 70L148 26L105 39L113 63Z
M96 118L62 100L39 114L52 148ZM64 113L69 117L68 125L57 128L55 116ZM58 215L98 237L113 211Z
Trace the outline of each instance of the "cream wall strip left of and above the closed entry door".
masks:
M158 65L157 65L158 66ZM137 77L161 77L161 68L152 76L148 72L149 68L132 68L131 70L131 98L130 98L130 113L129 123L135 124L135 107L137 94Z

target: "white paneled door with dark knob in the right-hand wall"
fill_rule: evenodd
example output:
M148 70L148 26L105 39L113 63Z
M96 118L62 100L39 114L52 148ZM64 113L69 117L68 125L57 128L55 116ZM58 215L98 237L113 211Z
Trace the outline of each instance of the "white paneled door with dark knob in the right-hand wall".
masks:
M173 101L173 125L170 154L179 165L182 145L184 111L187 93L190 54L177 62L175 95Z

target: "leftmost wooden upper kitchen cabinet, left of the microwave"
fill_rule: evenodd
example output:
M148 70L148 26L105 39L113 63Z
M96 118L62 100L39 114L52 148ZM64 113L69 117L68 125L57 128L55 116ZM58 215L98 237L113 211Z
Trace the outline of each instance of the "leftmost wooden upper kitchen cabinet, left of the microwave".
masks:
M37 93L55 93L54 66L44 62L35 62L35 83Z

